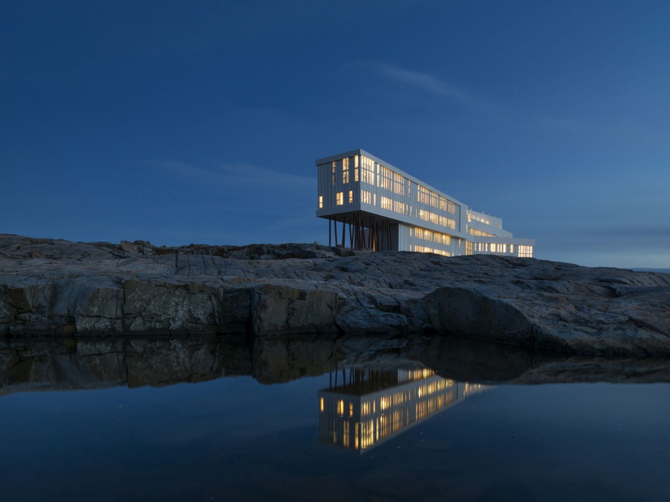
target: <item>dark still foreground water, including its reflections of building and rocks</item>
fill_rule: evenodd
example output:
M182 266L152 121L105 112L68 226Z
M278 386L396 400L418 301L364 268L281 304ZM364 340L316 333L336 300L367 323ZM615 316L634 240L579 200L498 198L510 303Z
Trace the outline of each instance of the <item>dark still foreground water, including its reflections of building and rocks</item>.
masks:
M141 343L144 363L127 342L3 348L0 500L670 500L668 383L459 382L388 342L338 362L283 340L248 366Z

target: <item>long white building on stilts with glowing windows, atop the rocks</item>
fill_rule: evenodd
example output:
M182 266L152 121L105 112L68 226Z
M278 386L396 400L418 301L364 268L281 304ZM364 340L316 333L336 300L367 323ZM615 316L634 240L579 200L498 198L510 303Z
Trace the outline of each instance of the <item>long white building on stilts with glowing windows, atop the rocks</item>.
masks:
M535 241L503 230L502 219L471 210L365 150L316 160L316 216L329 245L445 256L532 257Z

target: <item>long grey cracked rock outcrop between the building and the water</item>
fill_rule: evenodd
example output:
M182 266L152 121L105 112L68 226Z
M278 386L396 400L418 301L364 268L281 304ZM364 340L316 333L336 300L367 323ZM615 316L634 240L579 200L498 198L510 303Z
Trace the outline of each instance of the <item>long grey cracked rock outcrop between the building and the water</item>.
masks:
M670 355L670 275L317 244L0 235L0 333L432 333L661 357Z

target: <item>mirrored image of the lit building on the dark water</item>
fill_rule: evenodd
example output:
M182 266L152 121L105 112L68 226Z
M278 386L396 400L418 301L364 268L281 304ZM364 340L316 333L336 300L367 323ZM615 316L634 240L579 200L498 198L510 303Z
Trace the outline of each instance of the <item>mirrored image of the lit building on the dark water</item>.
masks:
M488 388L431 369L343 369L340 384L334 376L318 394L319 440L361 452Z

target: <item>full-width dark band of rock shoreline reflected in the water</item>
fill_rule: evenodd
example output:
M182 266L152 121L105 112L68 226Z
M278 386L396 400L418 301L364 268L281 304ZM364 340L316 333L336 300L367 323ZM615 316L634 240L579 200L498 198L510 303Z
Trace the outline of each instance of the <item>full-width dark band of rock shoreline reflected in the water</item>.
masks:
M342 368L430 368L479 383L670 381L667 359L587 359L457 337L109 337L0 339L0 395L168 385L229 375L264 384Z

